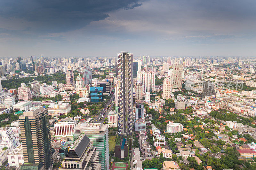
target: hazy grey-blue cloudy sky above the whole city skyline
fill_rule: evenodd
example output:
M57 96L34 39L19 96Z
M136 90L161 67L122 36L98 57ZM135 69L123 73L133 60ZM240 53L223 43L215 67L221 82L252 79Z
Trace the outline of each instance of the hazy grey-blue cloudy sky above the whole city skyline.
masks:
M256 56L255 0L0 0L0 57Z

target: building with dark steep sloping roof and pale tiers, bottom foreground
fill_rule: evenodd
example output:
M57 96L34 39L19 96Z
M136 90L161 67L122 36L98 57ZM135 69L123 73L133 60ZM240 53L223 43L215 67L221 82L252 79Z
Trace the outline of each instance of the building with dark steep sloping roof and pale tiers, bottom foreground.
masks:
M99 152L85 133L81 133L70 146L60 169L100 170Z

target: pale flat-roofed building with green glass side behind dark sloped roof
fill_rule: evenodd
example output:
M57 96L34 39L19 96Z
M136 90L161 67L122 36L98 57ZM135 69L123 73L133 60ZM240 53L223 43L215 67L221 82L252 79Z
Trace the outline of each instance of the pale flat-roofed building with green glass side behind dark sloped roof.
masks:
M108 124L80 122L75 130L73 139L76 140L77 135L85 133L99 152L101 170L109 170Z

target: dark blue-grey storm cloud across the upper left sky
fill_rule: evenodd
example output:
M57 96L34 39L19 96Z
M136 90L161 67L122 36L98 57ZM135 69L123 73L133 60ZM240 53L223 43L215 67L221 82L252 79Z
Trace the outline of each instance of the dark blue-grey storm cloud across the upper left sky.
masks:
M0 0L0 17L28 22L27 29L47 33L79 29L103 20L112 10L132 9L140 0ZM17 23L16 27L19 27ZM1 25L0 25L1 27Z

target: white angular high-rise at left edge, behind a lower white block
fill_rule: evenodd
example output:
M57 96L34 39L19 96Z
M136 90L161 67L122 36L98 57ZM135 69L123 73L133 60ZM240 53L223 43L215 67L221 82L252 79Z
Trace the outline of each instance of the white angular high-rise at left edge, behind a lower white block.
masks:
M1 148L7 147L10 150L16 148L19 142L19 136L16 136L12 128L6 127L1 131Z

